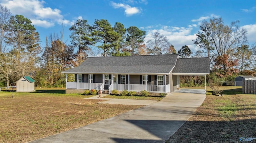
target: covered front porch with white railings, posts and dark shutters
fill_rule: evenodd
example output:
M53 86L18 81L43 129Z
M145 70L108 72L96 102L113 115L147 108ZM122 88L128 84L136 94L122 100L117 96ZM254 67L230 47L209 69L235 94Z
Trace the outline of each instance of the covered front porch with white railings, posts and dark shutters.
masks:
M112 90L135 91L146 90L153 93L170 92L169 74L74 74L75 81L67 81L66 89L77 90Z

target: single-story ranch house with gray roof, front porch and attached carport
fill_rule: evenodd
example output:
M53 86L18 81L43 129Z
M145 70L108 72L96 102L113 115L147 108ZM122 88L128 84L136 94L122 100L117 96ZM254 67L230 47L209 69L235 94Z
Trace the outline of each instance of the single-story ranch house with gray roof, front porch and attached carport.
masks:
M178 55L143 55L124 57L89 57L66 73L66 93L86 89L128 90L154 93L173 92L179 88L180 75L205 76L210 72L209 58L178 58ZM75 81L67 82L67 74Z

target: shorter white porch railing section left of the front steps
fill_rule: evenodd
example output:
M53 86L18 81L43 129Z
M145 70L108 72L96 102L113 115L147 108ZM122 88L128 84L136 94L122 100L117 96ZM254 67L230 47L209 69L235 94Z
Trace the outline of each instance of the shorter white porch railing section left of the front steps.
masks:
M103 88L102 88L103 85ZM103 83L87 83L87 82L66 82L66 89L104 89Z

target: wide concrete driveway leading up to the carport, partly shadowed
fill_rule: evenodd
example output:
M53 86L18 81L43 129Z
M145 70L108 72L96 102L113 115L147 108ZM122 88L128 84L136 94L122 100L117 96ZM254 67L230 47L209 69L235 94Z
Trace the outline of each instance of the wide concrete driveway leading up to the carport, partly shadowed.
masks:
M142 108L31 143L164 143L206 97L179 91Z

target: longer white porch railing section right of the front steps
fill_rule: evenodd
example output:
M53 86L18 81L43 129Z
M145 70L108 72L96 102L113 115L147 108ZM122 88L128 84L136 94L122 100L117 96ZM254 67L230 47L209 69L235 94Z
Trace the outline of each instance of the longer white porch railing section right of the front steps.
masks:
M146 90L146 85L144 85L144 84L129 84L129 89L128 89L128 84L111 84L108 89L109 89L109 94L114 89L118 90L118 91L128 90L128 91L140 92L142 90ZM170 92L170 84L168 84L168 85L150 85L150 84L148 84L147 91L154 92L154 93L167 93L167 92Z

